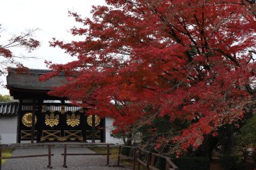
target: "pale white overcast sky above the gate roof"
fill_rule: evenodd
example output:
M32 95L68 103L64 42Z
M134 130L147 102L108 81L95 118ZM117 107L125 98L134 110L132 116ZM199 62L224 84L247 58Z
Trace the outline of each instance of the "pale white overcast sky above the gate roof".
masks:
M44 60L52 60L55 63L69 62L72 58L64 54L63 50L49 47L49 41L53 38L67 42L73 39L69 30L79 25L75 24L73 17L68 17L68 11L91 17L92 5L104 4L104 0L1 0L0 43L5 44L13 34L38 28L35 37L42 43L38 50L30 54L18 48L13 51L17 55L36 56L41 59L26 59L22 60L22 63L31 69L47 69ZM1 79L6 82L5 77ZM9 91L1 87L0 93L5 95L9 94Z

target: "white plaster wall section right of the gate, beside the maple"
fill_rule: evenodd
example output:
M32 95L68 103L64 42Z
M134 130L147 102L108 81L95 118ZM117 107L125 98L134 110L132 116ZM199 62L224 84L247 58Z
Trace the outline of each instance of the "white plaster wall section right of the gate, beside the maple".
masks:
M112 136L110 136L111 131L114 130L113 122L114 120L112 118L105 118L106 143L123 144L123 140L121 140L120 138L113 138Z

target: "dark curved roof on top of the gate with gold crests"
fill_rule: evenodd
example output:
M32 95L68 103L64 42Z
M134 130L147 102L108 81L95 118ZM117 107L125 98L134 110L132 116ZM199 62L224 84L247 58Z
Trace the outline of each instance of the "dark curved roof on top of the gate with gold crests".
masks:
M7 88L32 89L49 91L67 83L63 74L53 77L48 81L39 81L39 77L49 70L29 69L28 73L16 73L15 68L10 68L7 75Z

